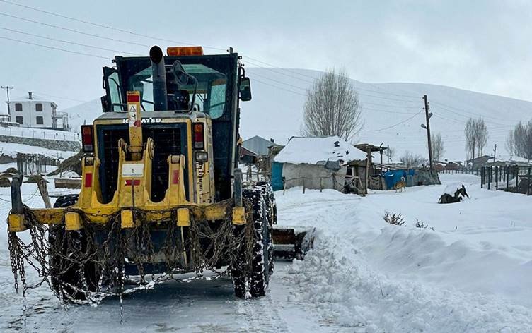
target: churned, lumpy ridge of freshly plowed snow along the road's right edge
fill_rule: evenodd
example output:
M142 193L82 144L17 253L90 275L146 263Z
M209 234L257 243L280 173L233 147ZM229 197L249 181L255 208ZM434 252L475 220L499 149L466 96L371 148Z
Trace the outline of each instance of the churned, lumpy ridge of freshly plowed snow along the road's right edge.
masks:
M291 274L297 301L313 303L325 320L361 332L528 332L530 309L493 296L394 279L366 269L356 252L343 255L338 238L320 238ZM343 249L345 250L345 248ZM352 248L350 249L352 250Z

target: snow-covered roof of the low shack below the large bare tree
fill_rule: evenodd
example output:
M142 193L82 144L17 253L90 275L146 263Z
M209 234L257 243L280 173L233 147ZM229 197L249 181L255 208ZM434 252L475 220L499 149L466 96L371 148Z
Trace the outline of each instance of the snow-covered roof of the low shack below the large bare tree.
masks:
M337 147L335 147L337 143ZM328 138L291 138L274 158L275 162L291 164L316 164L320 161L343 161L366 159L366 153L347 141L331 136Z

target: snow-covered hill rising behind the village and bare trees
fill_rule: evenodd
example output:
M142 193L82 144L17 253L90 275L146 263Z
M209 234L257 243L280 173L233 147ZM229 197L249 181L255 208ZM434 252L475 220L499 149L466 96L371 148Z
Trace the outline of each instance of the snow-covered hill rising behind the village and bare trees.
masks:
M243 138L260 135L284 144L298 135L303 121L307 88L322 72L287 68L248 68L253 100L242 104ZM353 80L362 104L364 128L358 142L390 145L397 157L405 150L427 155L427 136L423 128L423 95L428 95L433 133L441 133L445 158L465 159L463 127L469 117L482 116L490 131L484 152L505 153L504 141L520 119L532 116L532 102L487 95L480 92L423 83L363 83ZM79 131L83 121L90 123L101 113L100 100L65 109L69 122Z

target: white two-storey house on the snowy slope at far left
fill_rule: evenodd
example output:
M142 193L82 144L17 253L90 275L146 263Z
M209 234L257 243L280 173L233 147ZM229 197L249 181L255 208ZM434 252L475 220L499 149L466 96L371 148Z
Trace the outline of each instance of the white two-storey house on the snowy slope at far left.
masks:
M11 122L21 127L68 130L68 114L57 112L57 104L28 92L28 95L9 101Z

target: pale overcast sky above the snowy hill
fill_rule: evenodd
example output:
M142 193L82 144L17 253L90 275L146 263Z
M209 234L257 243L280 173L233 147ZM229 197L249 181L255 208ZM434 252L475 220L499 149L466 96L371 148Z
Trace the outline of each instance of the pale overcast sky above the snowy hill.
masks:
M8 2L160 39L100 28ZM532 1L8 2L0 0L0 13L19 18L0 15L0 85L15 86L12 97L25 95L28 90L62 97L54 98L60 108L102 95L101 67L110 66L110 60L1 37L108 59L122 52L147 55L152 44L200 44L206 53L222 52L208 47L224 50L232 46L244 61L246 57L254 59L247 58L247 66L254 66L251 61L320 71L343 66L352 78L366 82L434 83L532 100ZM6 28L117 52L45 40ZM267 66L265 63L260 64ZM0 93L0 100L5 100L5 91Z

